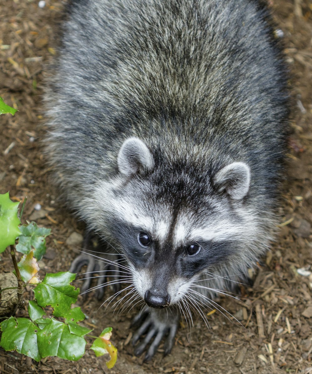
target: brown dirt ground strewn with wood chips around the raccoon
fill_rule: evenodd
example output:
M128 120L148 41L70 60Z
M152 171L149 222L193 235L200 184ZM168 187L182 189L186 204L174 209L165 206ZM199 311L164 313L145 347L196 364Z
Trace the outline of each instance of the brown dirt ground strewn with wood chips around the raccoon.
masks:
M46 358L36 363L0 350L0 373L312 373L312 3L271 0L270 5L290 69L294 134L280 234L254 285L242 286L241 301L220 299L229 314L227 318L220 312L209 315L210 330L198 316L191 332L182 321L172 353L163 358L160 346L148 364L133 355L129 343L130 323L138 310L134 307L119 315L100 307L90 294L79 304L95 332L113 327L119 357L112 370L93 352L79 362ZM47 254L40 262L43 277L46 272L68 270L83 233L82 225L58 205L42 155L43 79L45 64L55 57L62 2L48 0L41 9L38 1L0 0L0 15L0 96L19 110L14 117L0 117L0 193L9 190L14 200L27 196L24 217L52 229ZM37 204L41 209L34 209ZM80 236L71 244L68 238L74 232ZM4 253L0 272L10 268L9 254ZM302 268L306 273L298 270ZM19 310L18 315L25 311Z

